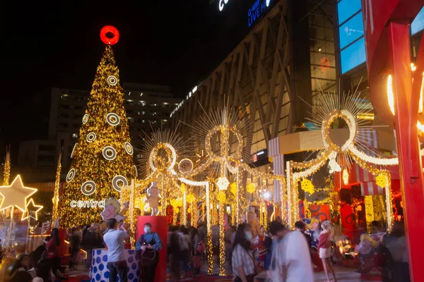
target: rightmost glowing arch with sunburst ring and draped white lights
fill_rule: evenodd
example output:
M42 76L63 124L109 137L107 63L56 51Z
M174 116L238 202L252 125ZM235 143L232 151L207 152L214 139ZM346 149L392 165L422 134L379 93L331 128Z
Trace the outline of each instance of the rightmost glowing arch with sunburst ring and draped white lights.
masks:
M385 187L387 200L387 221L389 231L391 230L392 212L391 212L391 189L390 173L384 169L385 166L394 166L399 164L397 157L385 158L379 155L377 148L370 149L370 137L363 130L372 128L367 125L367 120L362 120L360 116L366 116L372 111L370 102L361 99L360 92L351 95L343 94L339 99L334 94L318 94L314 97L314 111L311 118L307 118L319 130L321 135L317 135L317 140L312 140L317 144L317 157L310 161L286 162L286 183L288 198L288 225L293 228L295 221L298 221L297 202L298 202L298 180L307 178L324 166L329 161L329 171L350 170L352 161L355 161L360 167L370 171L374 176L382 175L387 177ZM348 128L348 137L343 144L336 144L331 140L330 130L335 121L343 122ZM323 146L321 146L322 144ZM369 152L373 155L370 155ZM383 167L383 169L377 168ZM294 170L297 170L294 172Z

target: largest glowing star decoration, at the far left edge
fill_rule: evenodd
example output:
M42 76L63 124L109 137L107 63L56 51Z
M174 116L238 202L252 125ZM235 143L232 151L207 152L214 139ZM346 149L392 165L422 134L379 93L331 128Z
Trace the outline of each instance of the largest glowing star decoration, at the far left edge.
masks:
M16 176L10 186L0 186L0 195L3 196L0 211L9 207L17 207L21 212L25 212L28 198L35 192L37 189L23 186L20 176Z

